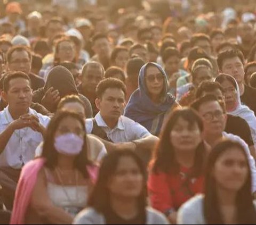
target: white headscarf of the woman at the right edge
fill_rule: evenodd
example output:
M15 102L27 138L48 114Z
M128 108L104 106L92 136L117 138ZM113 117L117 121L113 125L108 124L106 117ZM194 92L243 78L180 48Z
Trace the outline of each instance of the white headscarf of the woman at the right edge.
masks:
M248 123L250 130L251 130L251 135L252 135L254 146L256 146L256 117L255 117L255 114L252 110L249 109L248 106L242 105L239 86L238 86L235 78L233 78L232 76L230 76L228 74L221 74L220 76L218 76L215 79L215 81L219 82L218 80L220 79L220 77L223 77L223 76L229 77L236 84L235 88L236 88L236 92L237 92L237 106L236 106L235 110L228 112L228 114L234 115L234 116L239 116Z

